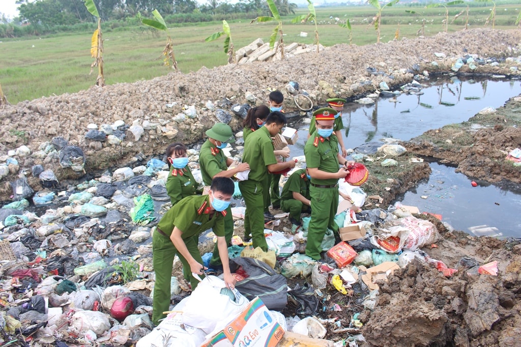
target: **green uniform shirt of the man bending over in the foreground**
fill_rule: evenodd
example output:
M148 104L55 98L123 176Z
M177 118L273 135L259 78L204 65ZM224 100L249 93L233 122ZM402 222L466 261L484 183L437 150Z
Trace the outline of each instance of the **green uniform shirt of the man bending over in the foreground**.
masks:
M183 232L183 239L200 235L209 228L212 228L215 235L225 236L224 216L226 211L215 211L211 220L209 213L209 195L190 196L173 205L159 221L157 227L170 237L173 228L177 226Z

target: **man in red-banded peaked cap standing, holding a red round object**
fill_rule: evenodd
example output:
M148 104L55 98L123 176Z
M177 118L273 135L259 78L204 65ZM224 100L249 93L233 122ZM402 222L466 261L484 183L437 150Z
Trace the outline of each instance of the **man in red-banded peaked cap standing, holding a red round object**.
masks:
M311 221L307 234L306 255L320 259L320 244L328 228L338 232L334 216L338 208L338 180L349 173L348 166L354 162L345 160L338 151L337 136L333 134L334 115L332 108L321 108L313 112L315 132L304 146L304 156L311 183ZM343 166L339 168L340 164Z

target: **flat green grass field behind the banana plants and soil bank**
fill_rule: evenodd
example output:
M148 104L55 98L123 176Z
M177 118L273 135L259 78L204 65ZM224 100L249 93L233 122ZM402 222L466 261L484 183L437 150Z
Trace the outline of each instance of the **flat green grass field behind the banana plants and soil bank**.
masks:
M449 22L464 7L451 7ZM334 21L338 17L352 24L353 44L376 43L376 31L369 25L376 10L373 7L326 7L317 8L320 43L332 46L349 43L349 30L339 27ZM409 14L405 10L414 10ZM521 5L498 6L496 29L514 29ZM305 14L307 9L299 9L296 15ZM470 7L469 28L482 27L490 13L490 7ZM421 28L425 18L425 35L443 31L444 8L422 8L393 6L382 12L381 42L394 38L400 28L400 38L412 38ZM295 15L295 16L296 16ZM295 16L284 18L284 42L313 43L315 27L312 23L292 24ZM330 19L333 17L333 19ZM449 25L449 31L464 29L465 15ZM249 21L230 22L235 48L243 47L257 37L269 41L275 27L272 23ZM398 24L400 24L398 26ZM489 24L491 27L491 24ZM171 70L163 66L161 52L166 43L164 33L146 30L144 27L115 29L103 27L104 31L104 73L106 84L150 80L165 75ZM185 25L169 29L174 42L174 52L182 72L197 71L201 67L213 68L224 65L227 57L222 50L224 38L206 43L205 37L221 31L220 22L201 25ZM11 104L42 96L74 93L94 85L97 69L89 75L93 58L90 57L91 35L94 31L57 34L26 40L4 40L0 43L0 84ZM300 32L308 32L308 37L300 37Z

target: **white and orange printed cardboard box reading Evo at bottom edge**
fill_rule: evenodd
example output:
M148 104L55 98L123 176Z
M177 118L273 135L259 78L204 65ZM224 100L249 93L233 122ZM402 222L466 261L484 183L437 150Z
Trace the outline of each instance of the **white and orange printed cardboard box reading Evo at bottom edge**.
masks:
M201 347L275 347L283 335L284 329L262 300L255 298L237 318Z

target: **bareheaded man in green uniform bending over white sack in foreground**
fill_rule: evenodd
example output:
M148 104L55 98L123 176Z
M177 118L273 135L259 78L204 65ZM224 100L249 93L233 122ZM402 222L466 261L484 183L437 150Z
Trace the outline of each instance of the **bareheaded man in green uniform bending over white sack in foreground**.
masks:
M195 289L199 281L192 274L202 275L205 267L195 239L205 230L212 228L217 235L224 281L226 287L233 289L235 278L231 275L228 248L225 241L225 215L234 191L230 178L215 177L208 195L189 196L168 210L157 224L152 236L152 254L155 272L152 322L166 317L169 310L170 279L173 258L177 254L183 268L191 272L190 284Z

